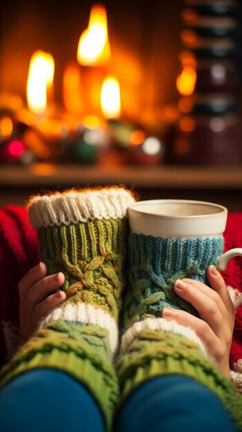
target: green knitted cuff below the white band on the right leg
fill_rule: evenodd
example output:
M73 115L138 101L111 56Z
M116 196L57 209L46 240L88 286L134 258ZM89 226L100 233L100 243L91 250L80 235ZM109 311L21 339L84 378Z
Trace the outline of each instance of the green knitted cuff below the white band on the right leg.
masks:
M119 357L117 374L121 403L137 386L153 377L180 374L194 378L219 397L236 426L242 430L242 398L234 385L205 359L196 342L181 335L140 331Z

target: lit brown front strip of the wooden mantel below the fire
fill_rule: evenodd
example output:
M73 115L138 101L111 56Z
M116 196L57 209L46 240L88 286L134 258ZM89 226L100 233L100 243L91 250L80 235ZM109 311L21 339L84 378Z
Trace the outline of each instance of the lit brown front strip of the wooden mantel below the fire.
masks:
M0 166L0 187L125 184L137 188L241 189L242 166Z

